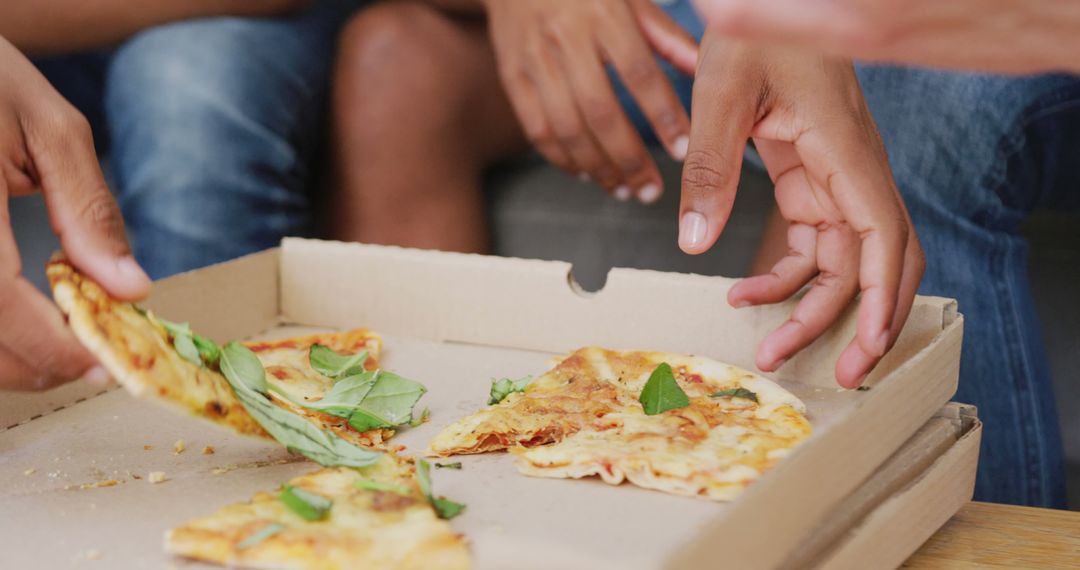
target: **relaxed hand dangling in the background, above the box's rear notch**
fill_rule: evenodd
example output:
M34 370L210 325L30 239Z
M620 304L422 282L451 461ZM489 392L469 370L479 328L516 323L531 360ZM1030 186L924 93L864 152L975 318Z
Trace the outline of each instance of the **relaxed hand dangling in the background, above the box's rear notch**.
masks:
M650 43L692 72L697 44L651 0L485 0L499 74L541 154L619 200L657 201L663 184L608 80L610 63L658 138L686 155L690 121Z

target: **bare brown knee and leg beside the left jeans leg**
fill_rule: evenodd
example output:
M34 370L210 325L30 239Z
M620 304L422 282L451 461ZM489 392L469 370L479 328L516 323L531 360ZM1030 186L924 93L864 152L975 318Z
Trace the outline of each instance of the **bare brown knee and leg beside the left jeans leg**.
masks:
M341 37L334 85L339 240L485 252L485 168L527 141L482 21L415 2L365 10Z

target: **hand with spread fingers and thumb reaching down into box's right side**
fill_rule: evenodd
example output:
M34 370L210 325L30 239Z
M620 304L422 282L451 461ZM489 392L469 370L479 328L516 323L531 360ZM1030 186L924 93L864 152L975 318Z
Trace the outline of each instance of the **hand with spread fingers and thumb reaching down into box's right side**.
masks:
M758 368L772 371L862 290L855 338L836 364L841 385L859 385L900 335L924 262L851 64L727 41L711 29L692 113L679 246L699 254L716 242L753 137L789 222L789 253L770 274L732 287L728 301L774 303L812 283L758 348Z

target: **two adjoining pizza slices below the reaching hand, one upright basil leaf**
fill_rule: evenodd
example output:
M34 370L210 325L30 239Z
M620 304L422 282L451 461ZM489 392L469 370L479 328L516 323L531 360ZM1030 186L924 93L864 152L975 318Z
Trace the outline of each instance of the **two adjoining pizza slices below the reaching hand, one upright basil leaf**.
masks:
M666 384L646 397L664 375ZM451 424L431 450L510 449L527 475L598 475L728 500L810 435L805 412L780 385L734 366L586 348L523 392Z

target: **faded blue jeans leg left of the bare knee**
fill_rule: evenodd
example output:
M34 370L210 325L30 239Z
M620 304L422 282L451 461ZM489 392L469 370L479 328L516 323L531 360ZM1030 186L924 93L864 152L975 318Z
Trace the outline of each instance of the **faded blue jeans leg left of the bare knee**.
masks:
M308 232L337 31L355 4L180 22L38 62L98 132L152 277Z

